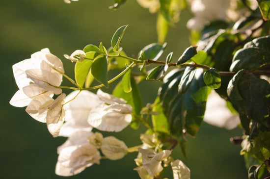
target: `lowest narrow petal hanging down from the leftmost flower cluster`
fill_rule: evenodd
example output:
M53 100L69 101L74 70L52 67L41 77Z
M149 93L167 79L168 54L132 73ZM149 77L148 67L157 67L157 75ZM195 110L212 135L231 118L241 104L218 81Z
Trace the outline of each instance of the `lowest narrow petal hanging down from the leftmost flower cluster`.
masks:
M58 96L50 107L46 121L49 132L57 137L65 119L65 109L63 108L64 98L66 95L62 93Z

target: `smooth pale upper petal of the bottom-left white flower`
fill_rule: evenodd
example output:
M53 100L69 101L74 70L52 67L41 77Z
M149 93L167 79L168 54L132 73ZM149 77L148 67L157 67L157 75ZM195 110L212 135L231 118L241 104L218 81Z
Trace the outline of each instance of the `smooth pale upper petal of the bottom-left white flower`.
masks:
M76 145L85 145L88 143L88 137L93 135L93 132L86 132L86 131L79 131L73 133L64 144L57 148L57 153L61 153L61 151L69 146L76 146Z

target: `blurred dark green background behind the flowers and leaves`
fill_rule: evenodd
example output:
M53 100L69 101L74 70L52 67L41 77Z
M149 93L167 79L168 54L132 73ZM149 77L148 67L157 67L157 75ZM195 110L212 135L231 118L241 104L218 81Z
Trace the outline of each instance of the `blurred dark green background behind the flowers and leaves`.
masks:
M71 4L63 0L1 0L0 1L0 179L60 179L54 174L56 148L66 138L53 138L43 123L32 119L25 108L16 108L9 100L18 90L12 65L27 59L33 52L50 48L61 58L65 71L73 76L75 63L63 58L87 44L108 48L114 31L129 25L121 46L128 55L137 54L144 46L156 42L156 15L128 0L119 10L108 9L113 0L79 0ZM189 47L186 28L189 12L182 12L180 23L169 29L167 50L174 52L174 62ZM153 102L161 83L139 84L143 103ZM105 91L112 91L113 86ZM70 91L65 91L69 93ZM129 147L140 145L138 130L126 128L116 135ZM191 179L245 179L247 172L240 146L230 144L231 136L241 130L225 130L203 123L195 139L189 138L188 157L184 159L177 148L174 158L183 160L191 170ZM71 179L138 179L131 153L121 160L102 160L100 165L87 168ZM168 178L171 178L168 170Z

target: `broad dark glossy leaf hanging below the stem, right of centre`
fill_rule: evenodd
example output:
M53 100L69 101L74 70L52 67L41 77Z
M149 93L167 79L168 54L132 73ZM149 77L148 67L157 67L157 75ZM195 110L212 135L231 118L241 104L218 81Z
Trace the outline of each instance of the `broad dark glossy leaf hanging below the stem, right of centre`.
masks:
M203 72L198 70L196 73L185 94L178 94L178 84L183 76L182 69L178 70L178 76L169 77L159 90L170 131L176 136L181 136L183 129L195 136L203 121L210 88L203 82Z

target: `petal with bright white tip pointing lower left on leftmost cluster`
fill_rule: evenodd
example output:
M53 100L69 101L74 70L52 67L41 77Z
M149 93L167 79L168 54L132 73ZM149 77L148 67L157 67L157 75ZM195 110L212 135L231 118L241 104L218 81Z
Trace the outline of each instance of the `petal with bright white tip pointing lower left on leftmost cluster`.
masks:
M30 84L23 87L22 89L19 89L9 103L16 107L24 107L27 106L34 97L42 94L50 97L54 96L52 91L44 90L36 84Z

